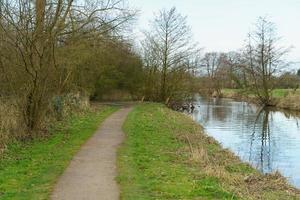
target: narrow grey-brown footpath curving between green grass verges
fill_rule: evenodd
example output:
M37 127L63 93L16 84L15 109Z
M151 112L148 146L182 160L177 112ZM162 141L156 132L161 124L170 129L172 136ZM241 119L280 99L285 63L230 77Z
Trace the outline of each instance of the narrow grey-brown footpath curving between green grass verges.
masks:
M116 200L116 151L123 141L122 125L131 107L108 117L75 155L59 179L52 200Z

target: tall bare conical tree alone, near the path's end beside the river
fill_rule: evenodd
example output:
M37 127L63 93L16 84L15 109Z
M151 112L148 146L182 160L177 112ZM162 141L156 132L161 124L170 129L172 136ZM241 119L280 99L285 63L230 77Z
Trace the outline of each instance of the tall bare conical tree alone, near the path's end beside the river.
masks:
M146 56L152 59L150 65L153 71L160 73L159 100L166 101L175 95L175 88L178 88L173 84L180 82L178 79L171 83L172 74L189 70L187 63L195 47L191 44L191 30L186 17L172 8L159 12L152 22L152 29L145 36Z

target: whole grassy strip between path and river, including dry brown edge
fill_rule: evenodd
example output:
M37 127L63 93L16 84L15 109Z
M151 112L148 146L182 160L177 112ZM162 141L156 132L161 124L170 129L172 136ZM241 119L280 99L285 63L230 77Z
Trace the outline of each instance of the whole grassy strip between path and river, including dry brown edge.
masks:
M260 174L188 116L160 104L137 106L124 130L121 199L300 199L279 174Z

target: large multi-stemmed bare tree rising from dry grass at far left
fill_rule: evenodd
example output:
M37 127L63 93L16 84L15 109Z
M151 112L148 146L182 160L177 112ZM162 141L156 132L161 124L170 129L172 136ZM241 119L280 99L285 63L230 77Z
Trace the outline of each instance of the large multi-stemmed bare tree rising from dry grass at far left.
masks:
M5 0L0 2L0 69L23 115L27 132L41 127L51 98L74 68L59 61L71 37L117 30L135 12L122 0Z

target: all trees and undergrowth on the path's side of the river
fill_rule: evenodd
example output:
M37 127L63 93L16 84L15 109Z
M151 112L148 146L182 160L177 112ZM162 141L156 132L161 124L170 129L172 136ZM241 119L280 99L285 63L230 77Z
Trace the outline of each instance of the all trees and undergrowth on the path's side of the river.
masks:
M89 100L190 100L199 52L186 17L160 11L139 43L136 14L123 0L1 1L0 146Z

